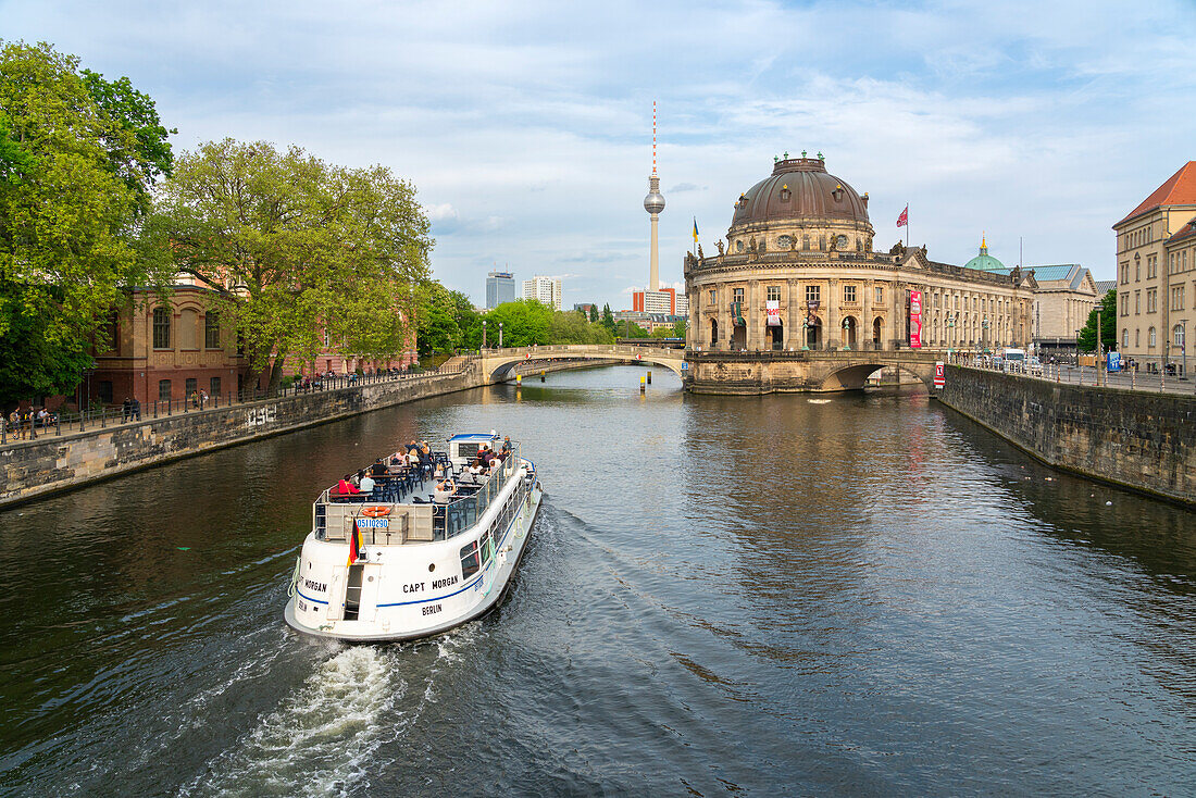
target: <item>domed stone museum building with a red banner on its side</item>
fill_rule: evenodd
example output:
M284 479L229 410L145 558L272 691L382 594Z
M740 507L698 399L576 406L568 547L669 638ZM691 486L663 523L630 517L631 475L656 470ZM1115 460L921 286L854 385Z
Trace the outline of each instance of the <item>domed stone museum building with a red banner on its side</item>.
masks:
M820 390L783 373L777 364L793 358L775 353L1029 342L1032 272L1005 269L987 245L959 267L930 261L925 246L878 252L874 236L868 195L826 171L822 153L775 159L773 173L736 200L718 255L698 248L685 258L688 348L768 364L727 378L736 392L761 392ZM911 317L913 292L921 315ZM691 386L719 390L727 370L697 360Z

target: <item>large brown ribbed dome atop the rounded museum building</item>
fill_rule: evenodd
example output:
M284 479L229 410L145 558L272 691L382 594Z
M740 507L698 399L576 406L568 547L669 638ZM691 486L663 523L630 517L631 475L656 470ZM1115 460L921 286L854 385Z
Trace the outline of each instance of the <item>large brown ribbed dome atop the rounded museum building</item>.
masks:
M731 226L799 219L867 225L868 203L846 181L829 175L822 158L787 158L739 197Z

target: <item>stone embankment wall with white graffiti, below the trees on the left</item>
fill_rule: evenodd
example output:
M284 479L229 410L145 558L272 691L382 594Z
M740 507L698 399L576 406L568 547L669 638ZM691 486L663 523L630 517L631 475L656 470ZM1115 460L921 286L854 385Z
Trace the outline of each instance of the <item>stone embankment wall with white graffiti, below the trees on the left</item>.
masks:
M476 367L176 413L106 430L11 443L0 450L0 506L391 404L483 385ZM65 432L65 431L63 431Z

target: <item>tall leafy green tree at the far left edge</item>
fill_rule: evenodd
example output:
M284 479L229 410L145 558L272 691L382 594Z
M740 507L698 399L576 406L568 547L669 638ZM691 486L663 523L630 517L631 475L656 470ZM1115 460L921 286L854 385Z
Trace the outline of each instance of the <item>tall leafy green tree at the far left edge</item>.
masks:
M78 68L49 44L0 47L4 401L69 392L122 290L170 279L160 258L138 257L140 196L157 173L139 171L135 133L96 100ZM139 98L151 114L153 102ZM146 132L145 144L169 165L165 135L154 142Z

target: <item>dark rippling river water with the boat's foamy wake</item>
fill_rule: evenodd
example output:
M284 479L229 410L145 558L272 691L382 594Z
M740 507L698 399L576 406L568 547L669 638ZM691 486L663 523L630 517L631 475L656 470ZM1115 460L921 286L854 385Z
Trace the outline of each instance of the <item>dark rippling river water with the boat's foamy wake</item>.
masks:
M380 410L0 513L0 792L1192 794L1196 516L925 394L640 370ZM311 500L496 428L547 494L443 638L282 622ZM1111 504L1110 504L1111 502Z

